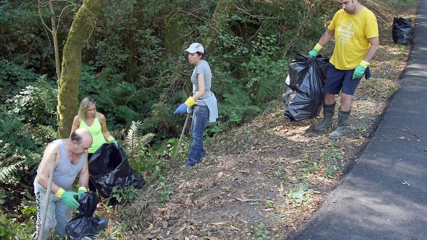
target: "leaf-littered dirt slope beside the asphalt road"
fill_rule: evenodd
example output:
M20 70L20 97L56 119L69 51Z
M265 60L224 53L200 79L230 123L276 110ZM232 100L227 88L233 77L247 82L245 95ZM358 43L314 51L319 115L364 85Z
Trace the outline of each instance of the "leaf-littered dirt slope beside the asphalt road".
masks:
M354 96L343 138L329 139L332 128L311 129L322 113L316 119L287 122L279 99L273 110L212 138L207 157L194 168L165 174L164 182L174 192L169 202L159 202L156 193L162 186L155 183L128 211L116 209L111 222L137 219L129 230L137 240L291 238L357 162L399 87L410 48L393 43L391 25L394 13L403 10L375 2L382 1L366 5L379 9L381 47L371 62L372 78L362 80ZM405 13L414 16L415 8ZM322 54L330 56L332 48L329 44Z

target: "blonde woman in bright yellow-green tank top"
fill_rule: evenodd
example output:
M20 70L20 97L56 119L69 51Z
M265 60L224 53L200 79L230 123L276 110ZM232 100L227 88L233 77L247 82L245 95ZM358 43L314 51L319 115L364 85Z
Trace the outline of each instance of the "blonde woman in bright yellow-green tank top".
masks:
M74 117L71 133L77 128L86 128L92 134L93 143L87 151L89 153L88 160L102 144L108 142L118 146L117 141L115 141L114 137L111 136L107 129L104 114L97 112L96 102L90 96L83 98L80 103L79 114Z

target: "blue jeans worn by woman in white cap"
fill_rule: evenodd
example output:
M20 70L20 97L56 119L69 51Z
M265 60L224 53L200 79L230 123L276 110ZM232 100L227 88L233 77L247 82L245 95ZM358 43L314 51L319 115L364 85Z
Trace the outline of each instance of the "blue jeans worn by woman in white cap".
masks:
M193 120L191 121L190 128L191 136L193 137L193 142L191 143L187 161L187 164L190 166L193 166L205 156L205 151L203 150L203 132L205 130L208 118L208 106L196 105L194 107Z

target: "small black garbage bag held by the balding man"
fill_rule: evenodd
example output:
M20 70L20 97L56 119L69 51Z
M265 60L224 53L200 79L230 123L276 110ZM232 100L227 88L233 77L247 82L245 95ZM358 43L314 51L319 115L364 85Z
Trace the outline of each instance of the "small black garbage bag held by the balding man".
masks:
M66 224L65 232L71 240L93 240L99 231L107 227L108 219L93 216L99 203L95 192L83 193L79 203L80 213Z

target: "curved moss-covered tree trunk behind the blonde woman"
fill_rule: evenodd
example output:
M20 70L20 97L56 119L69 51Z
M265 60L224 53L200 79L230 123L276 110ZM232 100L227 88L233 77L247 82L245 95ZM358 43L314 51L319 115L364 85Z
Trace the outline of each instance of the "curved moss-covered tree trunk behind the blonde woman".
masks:
M77 114L82 49L86 46L105 3L106 0L84 0L71 24L63 50L61 78L58 81L58 138L70 135L73 117Z

